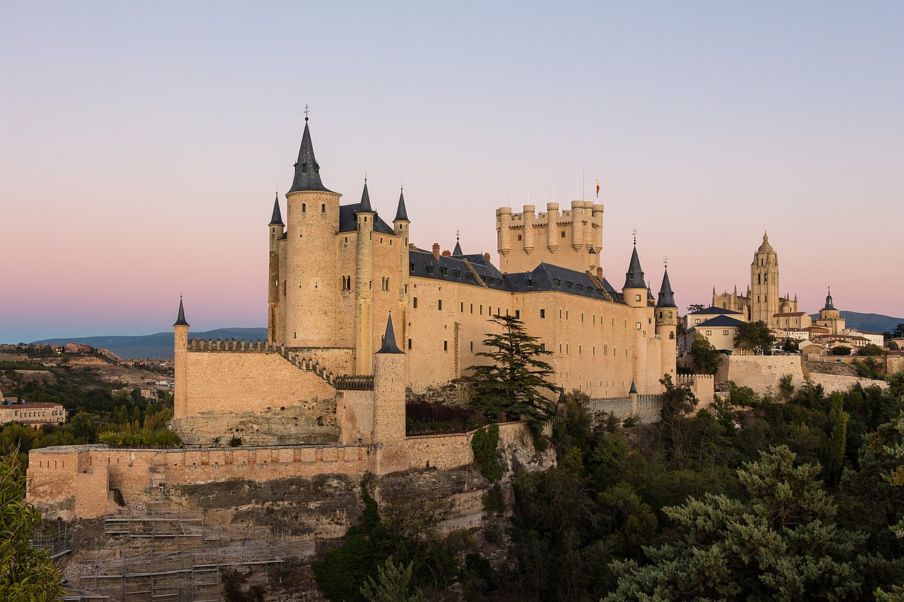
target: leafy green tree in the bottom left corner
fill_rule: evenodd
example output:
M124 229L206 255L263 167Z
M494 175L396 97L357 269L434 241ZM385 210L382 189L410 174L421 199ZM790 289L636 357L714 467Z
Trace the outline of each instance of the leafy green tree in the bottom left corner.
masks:
M25 503L24 466L17 454L0 459L0 599L45 602L65 595L48 554L32 547L41 513Z

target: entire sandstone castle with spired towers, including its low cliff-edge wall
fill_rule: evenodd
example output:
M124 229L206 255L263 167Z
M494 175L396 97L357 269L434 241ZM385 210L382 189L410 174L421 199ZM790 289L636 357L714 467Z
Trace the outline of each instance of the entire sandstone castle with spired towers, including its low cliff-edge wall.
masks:
M268 224L268 340L189 339L180 299L170 426L186 447L32 450L30 499L98 516L169 484L464 466L473 433L407 436L406 392L485 362L477 353L488 350L494 315L520 318L551 352L557 385L617 415L638 414L663 375L675 376L668 273L657 299L635 244L624 286L609 284L598 260L602 205L499 209L500 270L460 244L412 245L403 194L392 225L374 211L366 181L360 202L340 198L323 183L306 123L286 221L277 198ZM698 385L711 399L711 379ZM527 440L521 423L501 434ZM242 447L223 447L231 435Z

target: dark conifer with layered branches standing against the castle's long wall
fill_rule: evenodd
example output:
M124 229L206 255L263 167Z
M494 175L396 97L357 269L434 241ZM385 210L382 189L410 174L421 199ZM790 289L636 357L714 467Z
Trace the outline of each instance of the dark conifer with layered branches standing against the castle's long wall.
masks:
M557 392L549 379L552 367L541 359L552 352L524 331L521 320L496 315L490 322L502 326L500 334L487 333L485 346L493 351L477 355L493 362L471 366L475 398L472 405L489 419L524 419L535 433L556 413L556 405L546 391Z

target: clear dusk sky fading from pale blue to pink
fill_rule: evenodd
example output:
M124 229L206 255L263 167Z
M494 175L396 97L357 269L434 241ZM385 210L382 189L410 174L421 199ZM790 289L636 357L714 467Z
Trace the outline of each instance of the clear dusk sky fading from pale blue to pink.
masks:
M0 56L0 342L266 325L306 103L421 248L598 178L616 287L636 229L708 304L768 230L801 309L904 315L901 2L5 2Z

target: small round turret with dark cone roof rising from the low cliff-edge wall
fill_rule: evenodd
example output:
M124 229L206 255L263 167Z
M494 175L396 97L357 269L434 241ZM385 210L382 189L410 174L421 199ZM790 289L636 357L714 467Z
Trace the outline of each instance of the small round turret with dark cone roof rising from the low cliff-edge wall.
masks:
M374 472L382 475L408 468L405 445L405 353L395 341L392 315L380 351L373 355L373 438L380 446Z

